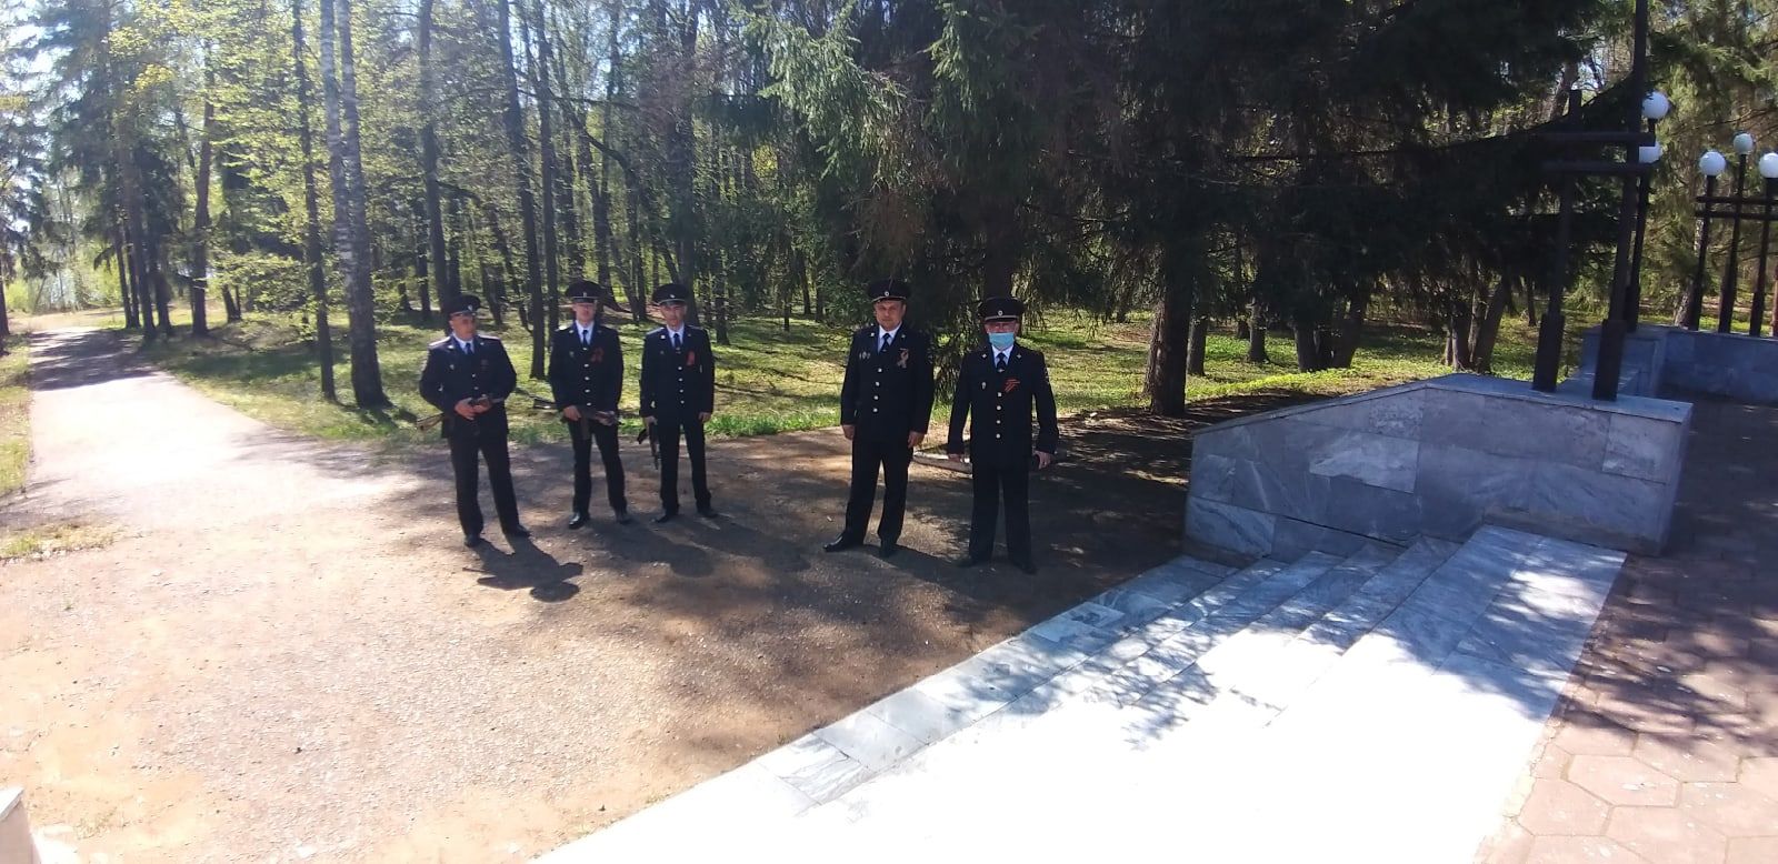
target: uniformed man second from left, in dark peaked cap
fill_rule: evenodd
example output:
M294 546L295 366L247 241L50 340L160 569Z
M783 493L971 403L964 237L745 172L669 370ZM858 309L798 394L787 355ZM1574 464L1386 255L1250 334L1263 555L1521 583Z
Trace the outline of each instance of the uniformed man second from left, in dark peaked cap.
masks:
M617 453L617 398L624 391L624 347L617 331L599 320L599 304L610 292L590 279L569 284L567 302L574 320L549 340L549 389L574 444L574 512L569 528L587 524L592 503L592 444L605 462L605 492L619 524L629 524L624 500L624 462ZM581 412L610 412L610 423L585 423ZM592 434L587 434L587 427Z

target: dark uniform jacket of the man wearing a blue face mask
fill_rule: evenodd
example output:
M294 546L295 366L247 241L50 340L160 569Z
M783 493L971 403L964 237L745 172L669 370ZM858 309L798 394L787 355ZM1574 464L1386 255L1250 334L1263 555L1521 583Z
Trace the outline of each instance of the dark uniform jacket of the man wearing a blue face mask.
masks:
M957 377L957 400L951 404L951 434L946 453L962 453L964 420L969 425L967 453L973 462L996 468L1029 464L1031 452L1056 452L1056 395L1049 389L1049 368L1044 354L1013 345L1006 357L1006 372L994 370L994 348L964 356ZM1031 418L1037 416L1037 441L1031 441Z

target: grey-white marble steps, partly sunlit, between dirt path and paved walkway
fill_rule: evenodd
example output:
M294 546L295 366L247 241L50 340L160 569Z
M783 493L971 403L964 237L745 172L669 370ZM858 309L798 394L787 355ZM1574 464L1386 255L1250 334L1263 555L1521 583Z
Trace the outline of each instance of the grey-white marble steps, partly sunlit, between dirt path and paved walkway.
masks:
M1179 558L542 860L1467 862L1622 560Z

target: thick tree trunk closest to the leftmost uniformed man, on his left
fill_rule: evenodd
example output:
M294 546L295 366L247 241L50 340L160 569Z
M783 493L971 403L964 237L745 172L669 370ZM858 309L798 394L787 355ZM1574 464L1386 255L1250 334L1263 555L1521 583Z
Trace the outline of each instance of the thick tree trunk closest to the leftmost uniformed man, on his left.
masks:
M345 272L345 311L352 354L352 398L361 409L388 407L377 366L377 318L370 286L370 228L364 167L359 160L357 69L352 60L352 0L320 0L322 101L327 103L327 167L334 192L334 258ZM336 20L338 12L338 20ZM334 60L338 36L340 57Z

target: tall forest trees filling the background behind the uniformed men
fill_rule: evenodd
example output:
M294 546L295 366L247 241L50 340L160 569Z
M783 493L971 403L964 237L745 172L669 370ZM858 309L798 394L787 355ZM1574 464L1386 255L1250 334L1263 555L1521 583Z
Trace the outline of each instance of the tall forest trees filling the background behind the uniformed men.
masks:
M1694 261L1694 153L1769 124L1773 11L1657 11L1654 80L1678 110L1652 304ZM1547 281L1554 196L1531 132L1570 87L1591 117L1641 98L1620 87L1629 12L0 0L0 283L98 265L146 340L176 334L174 304L204 336L212 293L229 320L300 311L324 395L361 407L388 402L379 318L477 293L532 334L541 375L581 276L638 318L651 286L692 284L724 341L738 315L850 320L859 284L900 276L948 357L983 293L1152 309L1145 391L1168 414L1207 322L1239 322L1253 357L1291 332L1316 370L1350 364L1387 304L1486 372L1502 315L1536 315ZM1582 281L1611 196L1582 190Z

